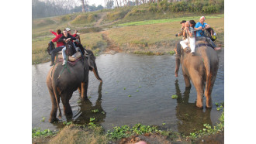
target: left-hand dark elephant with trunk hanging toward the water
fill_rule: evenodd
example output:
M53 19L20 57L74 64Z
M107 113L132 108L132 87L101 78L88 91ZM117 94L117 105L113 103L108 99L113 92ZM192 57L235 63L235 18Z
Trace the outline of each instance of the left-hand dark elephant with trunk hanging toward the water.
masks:
M50 68L47 75L47 87L52 102L50 123L58 120L57 109L59 109L59 118L61 118L60 98L64 107L64 115L72 115L69 100L74 91L78 90L82 99L87 98L89 70L92 70L95 77L102 82L95 63L95 56L91 50L86 51L88 56L82 57L74 66L69 64L63 66L62 62L57 62Z

